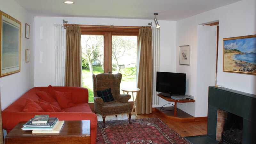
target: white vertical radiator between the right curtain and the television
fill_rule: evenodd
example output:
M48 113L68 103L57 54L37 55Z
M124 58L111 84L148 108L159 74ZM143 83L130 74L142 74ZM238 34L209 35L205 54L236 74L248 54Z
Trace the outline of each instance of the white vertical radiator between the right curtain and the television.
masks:
M156 72L159 71L160 28L152 28L153 45L153 105L158 105L158 92L156 92Z

